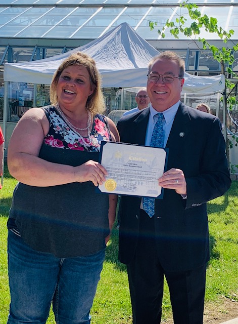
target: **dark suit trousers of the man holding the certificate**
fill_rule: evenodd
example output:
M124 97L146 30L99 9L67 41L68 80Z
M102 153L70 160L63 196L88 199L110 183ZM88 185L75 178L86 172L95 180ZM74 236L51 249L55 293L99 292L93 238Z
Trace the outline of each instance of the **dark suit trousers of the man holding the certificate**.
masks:
M191 271L165 271L157 257L154 219L140 210L135 256L127 265L133 324L159 324L166 277L174 324L202 324L206 265Z

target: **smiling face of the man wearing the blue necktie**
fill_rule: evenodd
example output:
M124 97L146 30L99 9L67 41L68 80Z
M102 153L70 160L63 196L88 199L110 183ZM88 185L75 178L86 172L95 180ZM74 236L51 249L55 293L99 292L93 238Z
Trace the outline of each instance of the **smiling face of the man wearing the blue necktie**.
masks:
M179 67L175 61L158 59L152 65L151 73L178 77ZM157 82L148 80L147 93L153 108L164 111L180 100L184 79L174 78L172 83L165 83L160 76Z

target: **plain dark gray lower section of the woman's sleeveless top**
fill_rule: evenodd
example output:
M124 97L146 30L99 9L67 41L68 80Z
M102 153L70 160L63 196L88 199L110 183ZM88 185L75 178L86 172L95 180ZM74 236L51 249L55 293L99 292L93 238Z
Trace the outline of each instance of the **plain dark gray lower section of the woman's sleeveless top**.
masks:
M99 152L65 150L42 144L39 157L71 166L98 161ZM32 249L56 257L85 256L105 248L109 234L109 199L91 181L52 187L18 183L8 228L17 227Z

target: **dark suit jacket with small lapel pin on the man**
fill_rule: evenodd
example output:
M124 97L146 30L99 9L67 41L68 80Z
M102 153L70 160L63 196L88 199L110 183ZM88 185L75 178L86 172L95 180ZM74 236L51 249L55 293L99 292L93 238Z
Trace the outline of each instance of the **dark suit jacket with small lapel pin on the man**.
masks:
M121 142L145 145L149 114L146 108L121 118L117 124ZM183 171L187 199L172 189L156 199L158 256L167 271L190 270L209 260L206 203L223 195L231 184L219 118L180 103L166 147L167 170ZM140 201L140 197L121 197L119 260L125 264L135 253Z

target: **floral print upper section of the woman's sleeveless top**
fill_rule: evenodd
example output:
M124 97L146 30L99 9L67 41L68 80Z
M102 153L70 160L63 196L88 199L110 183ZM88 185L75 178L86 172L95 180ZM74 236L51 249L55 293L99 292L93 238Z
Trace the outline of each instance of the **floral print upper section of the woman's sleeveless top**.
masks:
M106 116L96 114L92 123L90 141L87 137L82 139L68 126L54 106L42 108L50 121L49 133L44 138L44 144L52 147L99 152L101 141L110 141L111 134L107 125Z

